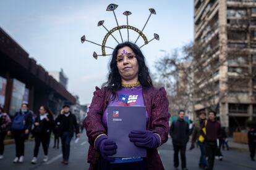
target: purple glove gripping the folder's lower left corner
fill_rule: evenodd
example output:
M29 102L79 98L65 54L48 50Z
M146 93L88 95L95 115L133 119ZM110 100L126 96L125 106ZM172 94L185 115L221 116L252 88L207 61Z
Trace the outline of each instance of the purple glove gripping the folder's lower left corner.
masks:
M116 153L117 145L113 140L108 139L107 136L100 136L96 140L95 148L100 151L101 156L108 161L113 161L114 158L108 157Z

